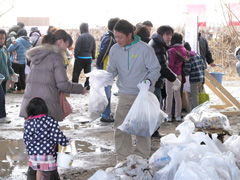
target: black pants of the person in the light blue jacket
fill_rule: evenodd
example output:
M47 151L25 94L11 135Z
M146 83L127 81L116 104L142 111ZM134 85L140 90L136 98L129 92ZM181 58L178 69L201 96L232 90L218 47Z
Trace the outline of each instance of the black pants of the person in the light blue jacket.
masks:
M19 74L17 85L17 90L25 89L25 64L12 63L12 68L15 73Z

